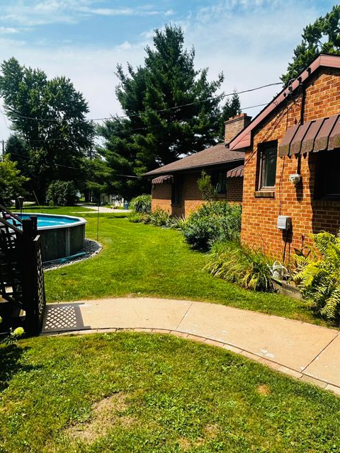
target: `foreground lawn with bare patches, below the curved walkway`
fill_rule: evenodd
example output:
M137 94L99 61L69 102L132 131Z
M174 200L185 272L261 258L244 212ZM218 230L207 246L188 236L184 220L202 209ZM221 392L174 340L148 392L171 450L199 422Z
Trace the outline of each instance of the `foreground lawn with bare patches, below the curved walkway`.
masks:
M1 453L340 451L339 398L189 340L30 338L0 362Z

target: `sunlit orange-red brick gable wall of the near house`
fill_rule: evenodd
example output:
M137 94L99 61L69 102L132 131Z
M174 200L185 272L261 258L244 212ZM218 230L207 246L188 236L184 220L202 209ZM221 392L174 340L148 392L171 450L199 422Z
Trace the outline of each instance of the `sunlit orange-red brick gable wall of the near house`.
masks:
M286 105L266 119L261 129L255 131L253 147L246 152L244 168L244 193L242 214L242 241L257 248L271 251L283 259L290 259L294 247L308 243L306 237L322 229L336 233L340 226L340 202L335 200L313 200L314 174L317 154L306 154L301 158L302 183L290 183L288 176L297 173L297 156L278 157L276 167L275 194L271 198L256 197L256 173L258 171L258 144L283 138L287 128L300 122L301 99L288 101ZM340 71L323 69L306 87L305 122L340 112ZM279 214L292 217L292 234L276 228Z

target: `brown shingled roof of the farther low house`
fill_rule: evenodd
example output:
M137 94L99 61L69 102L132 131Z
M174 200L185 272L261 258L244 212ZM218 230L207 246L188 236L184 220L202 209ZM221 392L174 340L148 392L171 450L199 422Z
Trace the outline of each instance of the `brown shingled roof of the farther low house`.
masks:
M171 162L171 164L155 168L148 171L144 176L162 175L164 173L171 173L172 171L185 171L191 168L200 168L206 166L213 166L217 164L230 164L233 161L244 160L244 153L240 151L230 151L225 147L224 143L216 144L215 147L210 147L199 151L198 153L191 154L191 156L183 157L179 161Z

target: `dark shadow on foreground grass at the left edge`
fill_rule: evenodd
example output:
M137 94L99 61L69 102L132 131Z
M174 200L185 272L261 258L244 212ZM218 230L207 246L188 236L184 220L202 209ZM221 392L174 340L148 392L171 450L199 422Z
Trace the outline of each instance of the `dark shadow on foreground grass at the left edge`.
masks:
M11 379L21 371L31 371L37 367L23 365L21 356L30 348L20 348L16 344L4 345L0 348L0 392L4 391Z

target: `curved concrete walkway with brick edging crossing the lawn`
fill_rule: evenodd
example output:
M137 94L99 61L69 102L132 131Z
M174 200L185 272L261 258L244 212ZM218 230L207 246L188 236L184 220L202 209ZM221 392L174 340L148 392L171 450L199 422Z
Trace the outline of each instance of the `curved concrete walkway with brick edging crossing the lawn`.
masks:
M120 329L220 346L340 394L340 331L230 306L145 297L48 304L42 335Z

